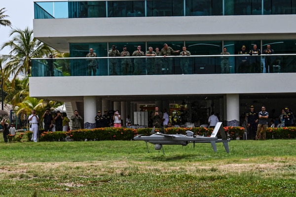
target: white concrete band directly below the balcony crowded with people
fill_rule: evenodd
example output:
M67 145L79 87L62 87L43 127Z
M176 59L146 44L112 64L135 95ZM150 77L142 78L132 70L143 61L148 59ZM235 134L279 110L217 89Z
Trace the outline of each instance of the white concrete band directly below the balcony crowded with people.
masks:
M31 97L296 93L295 73L30 77ZM130 88L122 88L130 84ZM285 87L285 88L283 88Z

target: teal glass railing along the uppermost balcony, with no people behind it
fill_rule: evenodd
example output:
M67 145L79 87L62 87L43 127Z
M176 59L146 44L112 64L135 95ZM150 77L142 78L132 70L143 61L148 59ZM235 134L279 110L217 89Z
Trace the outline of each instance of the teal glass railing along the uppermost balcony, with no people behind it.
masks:
M69 0L34 8L35 19L296 14L295 0Z

